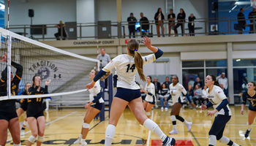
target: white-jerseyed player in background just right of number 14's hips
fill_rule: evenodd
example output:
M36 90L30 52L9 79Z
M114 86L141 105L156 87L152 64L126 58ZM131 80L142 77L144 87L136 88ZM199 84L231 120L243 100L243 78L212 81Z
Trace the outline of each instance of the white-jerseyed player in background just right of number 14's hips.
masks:
M145 101L143 101L143 107L146 110L146 115L148 118L150 118L150 111L152 107L154 107L154 104L156 104L156 96L155 96L155 87L154 84L151 82L152 78L151 76L146 77L146 86L144 90L140 90L140 92L146 93Z

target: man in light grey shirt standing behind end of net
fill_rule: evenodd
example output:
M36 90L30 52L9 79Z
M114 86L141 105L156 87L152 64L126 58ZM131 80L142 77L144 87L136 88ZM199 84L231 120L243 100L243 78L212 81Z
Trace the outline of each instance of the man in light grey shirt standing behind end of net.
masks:
M105 48L101 48L97 59L100 61L99 69L103 69L111 61L110 56L105 53ZM108 91L108 77L105 79L105 91Z

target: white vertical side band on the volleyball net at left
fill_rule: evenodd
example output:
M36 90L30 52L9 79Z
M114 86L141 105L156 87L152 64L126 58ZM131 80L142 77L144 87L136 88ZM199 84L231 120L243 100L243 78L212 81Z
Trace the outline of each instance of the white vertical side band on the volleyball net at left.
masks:
M12 37L7 35L8 48L7 48L7 96L10 99L11 96L11 56L12 56Z

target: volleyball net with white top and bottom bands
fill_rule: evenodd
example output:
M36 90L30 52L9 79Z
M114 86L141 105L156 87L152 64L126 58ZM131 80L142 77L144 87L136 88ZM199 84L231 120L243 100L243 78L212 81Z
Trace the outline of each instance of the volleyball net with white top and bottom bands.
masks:
M8 91L4 93L5 96L0 97L0 101L6 99L62 96L85 92L87 91L85 85L91 82L89 72L95 66L99 70L99 61L97 59L45 45L42 42L20 36L4 28L0 28L0 34L1 37L7 38L1 41L0 55L7 53L8 61L7 64L0 62L0 71L3 72L7 66L8 82L11 82L11 72L13 77L16 77L15 73L17 72L15 67L11 65L11 61L23 66L20 82L29 82L32 85L32 78L39 76L42 79L40 86L44 88L45 81L51 80L50 85L48 85L48 94L42 95L17 96L16 94L12 96L11 84L7 84L9 86Z

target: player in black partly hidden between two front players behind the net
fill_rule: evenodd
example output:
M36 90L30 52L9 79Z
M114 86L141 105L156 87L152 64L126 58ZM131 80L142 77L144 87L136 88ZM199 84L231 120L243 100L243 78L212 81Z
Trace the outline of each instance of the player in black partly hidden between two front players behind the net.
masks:
M29 88L31 88L31 83L26 83L25 90L20 94L21 96L27 96L29 95ZM20 99L20 107L17 110L17 115L20 117L24 112L26 112L28 108L28 99ZM24 135L26 126L28 125L27 117L25 116L20 135Z

